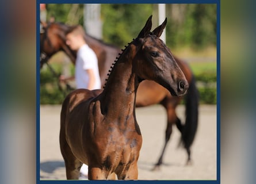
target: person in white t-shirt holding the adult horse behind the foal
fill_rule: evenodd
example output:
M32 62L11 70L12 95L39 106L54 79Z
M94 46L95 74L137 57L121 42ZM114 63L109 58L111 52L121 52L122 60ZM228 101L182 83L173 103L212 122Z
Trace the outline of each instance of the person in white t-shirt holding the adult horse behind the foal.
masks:
M84 39L85 31L81 25L71 26L66 32L66 44L74 51L77 51L75 60L75 77L64 78L60 81L68 81L75 78L77 89L101 89L101 79L98 71L98 59Z

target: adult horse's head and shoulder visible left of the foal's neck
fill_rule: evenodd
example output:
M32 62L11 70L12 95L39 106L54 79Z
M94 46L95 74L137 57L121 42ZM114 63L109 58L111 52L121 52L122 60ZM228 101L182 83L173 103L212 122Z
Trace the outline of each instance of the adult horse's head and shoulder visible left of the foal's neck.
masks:
M48 59L58 51L64 51L70 57L71 62L75 64L77 53L72 51L66 44L65 33L70 26L58 22L49 24L41 22L41 24L44 32L40 34L40 67L47 63ZM97 55L101 83L104 85L108 70L121 50L113 45L105 44L88 34L85 35L85 40Z

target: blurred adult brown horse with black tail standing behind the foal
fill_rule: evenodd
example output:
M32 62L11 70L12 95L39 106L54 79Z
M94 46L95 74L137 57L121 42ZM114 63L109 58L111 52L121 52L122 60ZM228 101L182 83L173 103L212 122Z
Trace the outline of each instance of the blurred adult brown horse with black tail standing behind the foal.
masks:
M68 29L68 25L60 23L45 24L43 22L44 33L41 34L41 56L47 55L45 59L40 57L41 66L47 62L47 59L54 55L58 51L64 51L75 64L76 54L66 45L65 32ZM118 56L120 49L113 45L106 44L101 40L95 39L86 34L85 40L87 44L94 50L98 57L98 65L100 70L102 86L105 84L105 78L109 72L109 68L112 67L113 61ZM52 45L52 46L51 46ZM154 168L158 168L162 164L163 154L166 150L166 145L170 140L173 125L177 125L177 128L181 132L181 141L188 153L187 163L190 161L190 146L193 143L194 136L197 131L198 122L198 92L196 88L196 82L194 81L192 71L188 64L174 56L177 64L184 72L187 81L189 82L188 93L185 96L186 105L186 120L182 124L181 120L175 113L175 108L181 102L183 97L174 97L168 90L154 81L143 81L140 83L137 90L136 106L143 107L152 104L161 104L165 107L167 112L167 127L165 136L165 145L161 152L161 156Z

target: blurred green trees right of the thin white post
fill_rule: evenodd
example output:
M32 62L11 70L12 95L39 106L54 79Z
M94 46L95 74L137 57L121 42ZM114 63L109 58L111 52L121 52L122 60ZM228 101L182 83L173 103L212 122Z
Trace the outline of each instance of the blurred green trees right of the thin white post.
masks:
M175 9L184 11L179 11L177 15ZM169 47L201 49L216 45L216 5L174 4L168 5L166 11L169 15L169 24L166 26L166 43Z

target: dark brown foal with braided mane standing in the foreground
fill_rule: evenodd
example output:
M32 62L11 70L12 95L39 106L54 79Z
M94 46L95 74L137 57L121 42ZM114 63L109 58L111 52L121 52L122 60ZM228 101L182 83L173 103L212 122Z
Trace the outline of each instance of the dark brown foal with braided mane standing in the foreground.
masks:
M137 179L142 135L135 117L139 83L152 80L172 95L188 89L185 75L159 39L167 19L152 32L152 16L117 58L104 90L78 89L64 100L60 117L60 150L67 179L78 179L82 163L89 179Z

